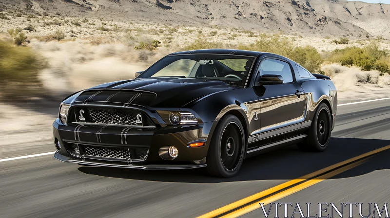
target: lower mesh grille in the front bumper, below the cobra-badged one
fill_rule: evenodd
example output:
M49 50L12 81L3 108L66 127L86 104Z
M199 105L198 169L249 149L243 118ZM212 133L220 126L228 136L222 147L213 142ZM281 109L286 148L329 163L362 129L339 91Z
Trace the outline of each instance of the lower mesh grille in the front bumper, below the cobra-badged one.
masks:
M84 145L76 143L66 143L69 153L75 156L91 156L108 158L108 159L122 159L122 160L144 160L148 156L148 148L144 147L107 147Z

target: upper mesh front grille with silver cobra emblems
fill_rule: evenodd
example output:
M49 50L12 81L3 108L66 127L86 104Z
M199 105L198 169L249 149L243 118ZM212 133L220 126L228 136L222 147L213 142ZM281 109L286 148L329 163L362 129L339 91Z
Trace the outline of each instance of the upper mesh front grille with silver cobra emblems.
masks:
M77 107L75 121L101 125L148 126L154 127L152 120L138 109L109 107Z

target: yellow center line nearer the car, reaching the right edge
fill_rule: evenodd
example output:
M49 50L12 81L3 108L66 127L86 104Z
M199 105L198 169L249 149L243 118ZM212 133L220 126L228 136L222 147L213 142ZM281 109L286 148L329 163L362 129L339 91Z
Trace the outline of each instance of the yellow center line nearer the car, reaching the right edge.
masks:
M317 170L315 172L312 172L310 174L307 174L305 176L302 176L300 178L297 178L297 179L294 179L294 180L291 180L291 181L288 181L288 182L284 182L282 184L279 184L279 185L276 185L270 189L267 189L267 190L264 190L264 191L261 191L259 193L256 193L254 195L251 195L247 198L244 198L244 199L241 199L241 200L237 200L231 204L228 204L226 206L223 206L221 208L218 208L214 211L211 211L207 214L204 214L204 215L201 215L199 216L198 218L213 218L213 217L216 217L216 216L219 216L221 214L224 214L226 212L229 212L229 211L232 211L234 210L235 208L238 208L238 207L241 207L241 206L244 206L245 204L248 204L250 202L253 202L254 200L258 200L258 199L261 199L261 198L264 198L268 195L271 195L277 191L280 191L282 189L285 189L287 187L290 187L292 185L295 185L297 183L300 183L300 182L303 182L303 181L306 181L308 179L311 179L311 178L314 178L314 177L317 177L321 174L324 174L328 171L331 171L331 170L334 170L338 167L341 167L343 165L346 165L346 164L351 164L352 162L355 162L359 159L362 159L362 158L366 158L366 157L369 157L373 154L376 154L376 153L379 153L381 151L384 151L384 150L387 150L390 148L390 145L387 145L387 146L384 146L384 147L381 147L381 148L378 148L376 150L373 150L373 151L370 151L370 152L367 152L367 153L364 153L364 154L361 154L359 156L356 156L356 157L353 157L351 159L348 159L346 161L342 161L340 163L337 163L337 164L333 164L331 166L328 166L328 167L325 167L323 169L320 169L320 170Z

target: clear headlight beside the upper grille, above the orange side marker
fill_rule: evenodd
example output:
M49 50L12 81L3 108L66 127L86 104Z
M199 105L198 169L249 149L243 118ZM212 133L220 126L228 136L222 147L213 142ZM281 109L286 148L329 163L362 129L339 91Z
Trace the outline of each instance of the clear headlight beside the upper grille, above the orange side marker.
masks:
M198 124L194 114L190 112L157 111L167 125L190 125Z

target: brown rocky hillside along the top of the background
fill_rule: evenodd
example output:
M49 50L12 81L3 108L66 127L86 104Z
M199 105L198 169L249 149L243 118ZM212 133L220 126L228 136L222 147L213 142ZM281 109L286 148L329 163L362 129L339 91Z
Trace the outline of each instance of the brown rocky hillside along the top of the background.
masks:
M1 0L0 10L302 36L390 38L390 4L346 0Z

